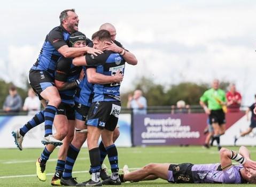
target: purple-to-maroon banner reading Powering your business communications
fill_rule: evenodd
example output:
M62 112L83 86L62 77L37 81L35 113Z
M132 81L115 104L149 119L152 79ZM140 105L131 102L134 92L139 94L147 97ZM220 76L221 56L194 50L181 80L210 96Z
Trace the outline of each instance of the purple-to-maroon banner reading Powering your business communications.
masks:
M227 113L227 128L244 116L243 112ZM205 113L135 115L134 145L203 145Z

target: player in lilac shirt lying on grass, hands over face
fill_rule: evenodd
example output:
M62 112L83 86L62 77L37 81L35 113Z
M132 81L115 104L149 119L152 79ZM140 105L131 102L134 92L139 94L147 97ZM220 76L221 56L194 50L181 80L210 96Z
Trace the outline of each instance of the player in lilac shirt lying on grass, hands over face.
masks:
M239 165L232 165L232 160ZM121 182L144 181L162 178L170 183L253 183L256 184L256 162L250 159L247 148L241 147L239 153L221 148L220 164L149 164L129 172L124 167Z

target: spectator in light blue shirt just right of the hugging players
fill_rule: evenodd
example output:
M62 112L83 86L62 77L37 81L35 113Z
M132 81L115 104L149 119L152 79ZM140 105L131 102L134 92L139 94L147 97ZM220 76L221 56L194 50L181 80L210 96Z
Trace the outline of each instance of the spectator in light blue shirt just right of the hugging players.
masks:
M135 115L146 114L146 98L142 96L141 90L135 90L133 96L128 96L127 108L133 109Z

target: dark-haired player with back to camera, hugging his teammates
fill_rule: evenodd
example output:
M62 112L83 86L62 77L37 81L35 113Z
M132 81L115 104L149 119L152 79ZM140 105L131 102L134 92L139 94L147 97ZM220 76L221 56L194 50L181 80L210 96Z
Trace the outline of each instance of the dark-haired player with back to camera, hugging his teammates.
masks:
M107 30L99 30L92 35L94 48L104 50L104 47L111 43L111 35ZM75 66L97 66L97 72L104 75L124 73L126 50L120 53L104 51L103 54L79 56L73 59ZM136 61L129 61L130 64L137 64ZM113 143L113 131L117 126L121 109L120 104L120 83L95 84L94 99L88 112L88 149L91 162L92 177L90 180L76 184L77 186L100 186L102 184L118 184L121 182L118 176L118 151ZM99 136L102 135L104 147L107 151L108 160L111 164L112 175L110 178L100 182L100 152L98 148Z

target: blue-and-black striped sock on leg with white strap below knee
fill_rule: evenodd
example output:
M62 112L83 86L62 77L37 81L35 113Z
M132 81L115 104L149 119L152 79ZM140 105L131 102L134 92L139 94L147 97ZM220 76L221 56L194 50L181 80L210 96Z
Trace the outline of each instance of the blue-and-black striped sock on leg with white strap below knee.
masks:
M67 150L67 159L66 159L65 169L62 175L64 179L72 177L72 170L73 170L75 160L77 158L79 151L80 149L77 149L74 147L74 145L69 144L69 148Z

